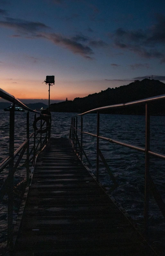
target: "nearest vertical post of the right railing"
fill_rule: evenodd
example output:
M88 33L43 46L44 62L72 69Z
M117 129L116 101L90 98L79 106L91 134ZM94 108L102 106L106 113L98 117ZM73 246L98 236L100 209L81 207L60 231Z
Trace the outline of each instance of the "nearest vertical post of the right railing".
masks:
M149 210L149 161L150 156L150 112L149 105L145 104L145 188L144 188L144 232L148 232L148 210Z

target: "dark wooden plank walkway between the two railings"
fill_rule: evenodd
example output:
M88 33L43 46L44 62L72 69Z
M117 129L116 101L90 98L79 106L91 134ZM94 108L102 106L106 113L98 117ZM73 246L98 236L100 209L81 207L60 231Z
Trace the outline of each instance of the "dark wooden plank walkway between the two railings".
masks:
M39 154L13 255L156 255L65 138Z

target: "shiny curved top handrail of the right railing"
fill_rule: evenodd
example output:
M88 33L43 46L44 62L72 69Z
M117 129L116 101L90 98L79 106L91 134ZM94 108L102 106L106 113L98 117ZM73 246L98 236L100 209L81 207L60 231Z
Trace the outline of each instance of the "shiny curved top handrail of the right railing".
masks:
M119 104L115 104L115 105L109 105L109 106L104 106L104 107L100 107L100 108L96 108L96 109L91 109L89 111L86 111L84 113L75 115L75 116L83 116L86 114L90 114L96 111L101 111L101 110L106 110L106 109L116 109L116 108L125 108L128 106L133 106L133 105L139 105L139 104L145 104L145 103L149 103L155 100L163 100L165 99L165 94L162 95L158 95L158 96L154 96L154 97L150 97L150 98L146 98L146 99L142 99L142 100L135 100L135 101L130 101L130 102L126 102L126 103L119 103ZM74 116L74 117L75 117Z

